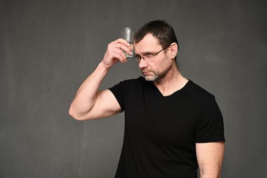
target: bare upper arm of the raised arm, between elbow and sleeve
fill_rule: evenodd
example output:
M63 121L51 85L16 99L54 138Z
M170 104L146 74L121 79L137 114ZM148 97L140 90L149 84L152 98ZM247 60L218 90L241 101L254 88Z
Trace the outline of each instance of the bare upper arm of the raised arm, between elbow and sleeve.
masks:
M115 115L121 111L115 96L110 90L102 90L97 93L94 107L90 112L84 115L84 120L95 120Z

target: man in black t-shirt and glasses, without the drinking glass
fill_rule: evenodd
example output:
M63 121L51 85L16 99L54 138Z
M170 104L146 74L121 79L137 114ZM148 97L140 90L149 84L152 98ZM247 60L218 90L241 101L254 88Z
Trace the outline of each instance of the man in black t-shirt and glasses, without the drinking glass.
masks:
M163 20L135 34L135 58L144 77L98 91L108 70L131 54L111 42L102 62L79 87L69 113L93 120L125 111L125 133L115 177L220 177L224 127L215 97L185 78L176 65L178 42Z

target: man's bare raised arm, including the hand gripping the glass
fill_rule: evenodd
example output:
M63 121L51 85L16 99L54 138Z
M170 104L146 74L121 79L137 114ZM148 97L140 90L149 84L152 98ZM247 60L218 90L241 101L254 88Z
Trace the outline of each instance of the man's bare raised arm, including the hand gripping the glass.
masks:
M126 40L117 39L108 44L102 62L79 87L70 105L69 114L76 120L104 118L121 111L121 107L109 90L98 91L112 65L127 62L124 51L131 53Z

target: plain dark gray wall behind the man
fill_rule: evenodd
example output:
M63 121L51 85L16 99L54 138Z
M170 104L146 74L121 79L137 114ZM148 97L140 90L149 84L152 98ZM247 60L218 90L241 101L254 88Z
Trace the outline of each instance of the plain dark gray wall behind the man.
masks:
M68 108L123 26L165 19L181 73L216 96L223 177L267 177L267 1L0 1L0 177L113 177L124 114L78 122ZM101 88L136 78L115 65Z

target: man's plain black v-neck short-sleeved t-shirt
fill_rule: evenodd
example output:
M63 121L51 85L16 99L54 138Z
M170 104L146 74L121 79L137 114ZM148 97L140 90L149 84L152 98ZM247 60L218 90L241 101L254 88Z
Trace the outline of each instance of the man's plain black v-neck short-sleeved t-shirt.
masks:
M125 111L115 178L195 178L195 143L225 141L223 116L214 95L192 80L165 97L143 77L109 90Z

